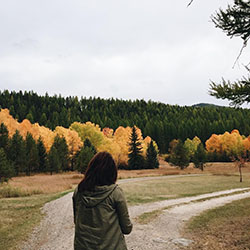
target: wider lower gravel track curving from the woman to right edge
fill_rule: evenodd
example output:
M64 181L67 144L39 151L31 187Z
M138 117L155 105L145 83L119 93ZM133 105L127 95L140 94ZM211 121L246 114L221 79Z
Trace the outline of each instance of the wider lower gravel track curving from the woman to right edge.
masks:
M230 190L230 192L232 191L233 190ZM225 194L225 192L223 193ZM219 192L217 192L217 195L218 194ZM187 246L189 243L191 243L191 241L182 238L180 234L184 223L187 220L207 209L223 206L234 200L249 197L250 192L231 194L229 196L212 198L202 202L179 205L167 210L163 210L163 213L150 224L134 225L133 232L131 235L126 237L128 249L176 250L180 247Z

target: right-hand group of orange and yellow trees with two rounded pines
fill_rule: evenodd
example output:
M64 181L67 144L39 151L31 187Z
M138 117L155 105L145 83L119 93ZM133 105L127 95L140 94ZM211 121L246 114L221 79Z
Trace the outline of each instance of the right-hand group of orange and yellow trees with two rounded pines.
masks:
M231 133L226 131L223 134L212 134L205 147L197 136L184 142L174 139L169 144L165 160L182 169L193 162L202 170L204 162L249 162L250 136L242 136L236 129Z

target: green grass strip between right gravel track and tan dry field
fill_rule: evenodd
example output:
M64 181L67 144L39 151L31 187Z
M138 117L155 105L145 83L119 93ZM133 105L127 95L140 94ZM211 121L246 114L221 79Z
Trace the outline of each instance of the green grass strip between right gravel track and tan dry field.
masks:
M250 175L238 176L185 176L169 179L144 180L121 183L129 205L155 202L166 199L195 196L233 188L250 187Z

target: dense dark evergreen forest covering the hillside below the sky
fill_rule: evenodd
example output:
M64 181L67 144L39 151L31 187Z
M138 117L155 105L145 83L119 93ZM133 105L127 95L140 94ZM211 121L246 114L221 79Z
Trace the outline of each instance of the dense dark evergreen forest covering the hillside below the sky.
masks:
M242 108L181 107L144 100L40 96L32 91L8 90L0 92L0 108L8 108L18 121L26 118L50 129L67 128L75 121L91 121L114 130L136 125L144 137L157 142L160 153L168 152L173 139L185 141L198 136L205 143L211 134L237 129L248 136L250 131L250 110Z

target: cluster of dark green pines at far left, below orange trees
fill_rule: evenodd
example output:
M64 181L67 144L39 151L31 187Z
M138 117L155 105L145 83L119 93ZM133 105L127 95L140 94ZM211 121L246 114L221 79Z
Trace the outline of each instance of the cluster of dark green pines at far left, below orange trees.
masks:
M49 152L41 138L37 141L31 133L26 138L16 130L10 137L7 127L0 125L0 182L25 173L53 172L73 170L77 155L70 157L64 137L56 136Z

